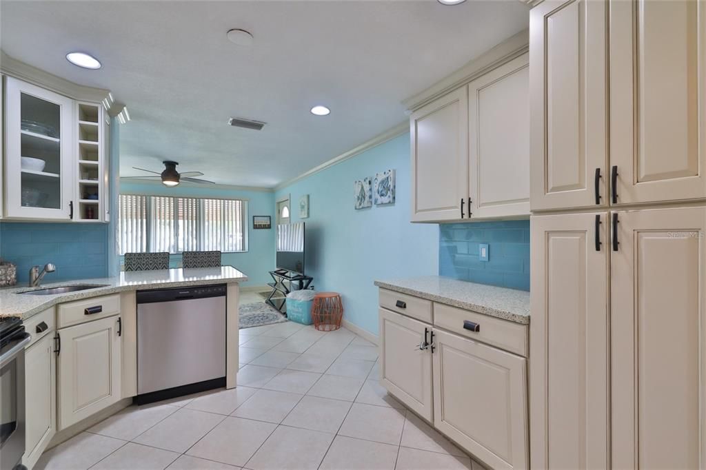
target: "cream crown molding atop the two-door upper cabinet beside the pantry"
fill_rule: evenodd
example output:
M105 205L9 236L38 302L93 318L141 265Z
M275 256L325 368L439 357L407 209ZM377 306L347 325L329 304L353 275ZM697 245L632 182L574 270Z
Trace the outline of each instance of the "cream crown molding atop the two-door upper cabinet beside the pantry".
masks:
M465 66L462 66L450 76L439 80L426 90L413 95L407 100L402 101L402 104L409 111L415 111L425 104L429 104L448 92L456 88L467 85L472 80L475 80L484 73L487 73L493 68L497 68L515 59L530 50L530 30L522 30L516 35L509 37L501 42L496 47L493 47L487 52L477 56L472 61L469 61Z

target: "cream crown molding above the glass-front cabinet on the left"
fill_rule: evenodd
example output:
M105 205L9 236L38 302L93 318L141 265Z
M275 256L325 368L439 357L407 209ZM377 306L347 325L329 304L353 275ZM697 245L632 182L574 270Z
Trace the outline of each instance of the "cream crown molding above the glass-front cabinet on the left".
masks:
M32 83L42 88L47 88L47 90L52 90L60 95L68 96L73 100L100 103L110 94L109 90L85 87L52 75L52 73L45 72L40 68L18 61L18 59L8 56L5 51L1 50L0 71L8 76L24 80L25 82Z

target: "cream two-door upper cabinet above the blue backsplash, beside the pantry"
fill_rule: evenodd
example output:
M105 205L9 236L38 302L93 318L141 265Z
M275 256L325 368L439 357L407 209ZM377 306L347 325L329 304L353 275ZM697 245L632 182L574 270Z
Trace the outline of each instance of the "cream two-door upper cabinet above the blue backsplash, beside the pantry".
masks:
M528 56L412 113L412 222L530 214Z

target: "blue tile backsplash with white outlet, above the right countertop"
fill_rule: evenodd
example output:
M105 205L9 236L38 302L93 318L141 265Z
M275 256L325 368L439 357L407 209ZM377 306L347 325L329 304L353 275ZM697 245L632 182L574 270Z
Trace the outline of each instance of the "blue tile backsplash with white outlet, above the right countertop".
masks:
M439 226L439 275L530 290L530 221L465 222ZM489 261L479 260L488 243Z

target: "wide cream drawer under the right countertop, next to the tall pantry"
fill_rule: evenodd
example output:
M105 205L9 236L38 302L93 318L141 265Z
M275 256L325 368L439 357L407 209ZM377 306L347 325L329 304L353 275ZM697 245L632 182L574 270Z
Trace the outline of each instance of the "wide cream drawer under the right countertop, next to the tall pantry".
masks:
M477 331L465 328L466 322L477 325ZM525 325L436 302L434 303L434 325L527 357L527 327Z

